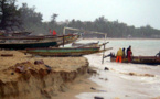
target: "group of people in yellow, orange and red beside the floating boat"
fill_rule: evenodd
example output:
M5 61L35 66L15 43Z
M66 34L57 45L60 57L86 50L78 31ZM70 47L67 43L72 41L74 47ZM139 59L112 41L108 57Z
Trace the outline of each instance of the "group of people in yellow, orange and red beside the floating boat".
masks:
M126 48L124 47L122 50L119 48L117 51L116 62L121 63L122 62L122 58L126 58L126 57L128 58L128 62L129 63L131 62L131 56L132 56L131 46L129 46L126 52L125 52L125 50Z

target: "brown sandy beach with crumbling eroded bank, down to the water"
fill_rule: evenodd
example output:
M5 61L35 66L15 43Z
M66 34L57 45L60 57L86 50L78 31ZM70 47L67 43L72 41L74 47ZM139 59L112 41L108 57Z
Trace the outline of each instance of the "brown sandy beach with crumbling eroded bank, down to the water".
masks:
M32 57L17 51L1 54L13 56L0 56L0 98L74 99L74 94L92 91L96 85L84 79L88 77L85 57Z

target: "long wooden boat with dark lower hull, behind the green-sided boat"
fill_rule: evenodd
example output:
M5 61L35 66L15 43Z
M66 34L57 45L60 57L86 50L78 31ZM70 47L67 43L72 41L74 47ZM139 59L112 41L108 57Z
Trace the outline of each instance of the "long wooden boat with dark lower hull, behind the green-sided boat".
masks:
M26 37L0 37L0 48L24 50L36 47L60 46L75 42L78 34L63 36L26 36Z

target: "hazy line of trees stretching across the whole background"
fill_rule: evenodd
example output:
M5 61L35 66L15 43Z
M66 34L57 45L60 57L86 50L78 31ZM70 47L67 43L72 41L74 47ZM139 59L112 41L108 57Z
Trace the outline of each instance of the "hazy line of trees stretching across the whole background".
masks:
M107 37L127 38L160 38L160 30L153 29L150 25L135 28L120 23L118 20L108 21L105 16L99 16L95 21L72 20L64 23L56 22L58 14L53 13L51 21L43 22L42 13L35 12L35 8L29 8L26 3L18 8L15 0L0 0L0 30L6 30L8 33L12 31L29 31L34 35L50 34L50 30L55 30L57 35L62 35L63 29L75 28L86 31L96 31L107 33ZM67 31L73 33L73 31ZM84 34L84 37L98 37L98 34Z

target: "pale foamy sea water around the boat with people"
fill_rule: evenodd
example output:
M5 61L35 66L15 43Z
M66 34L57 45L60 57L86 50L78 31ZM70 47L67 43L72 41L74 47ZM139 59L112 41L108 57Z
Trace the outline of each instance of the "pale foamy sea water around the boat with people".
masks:
M81 42L97 42L103 40L84 40ZM160 40L107 40L109 42L106 47L113 50L105 52L116 53L119 48L128 47L135 56L154 56L160 51ZM94 99L94 97L103 97L104 99L151 99L159 97L160 99L160 66L111 63L109 58L105 58L102 64L103 53L85 56L89 66L96 68L97 75L93 75L89 79L98 85L95 92L83 92L76 95L77 99ZM109 70L104 70L108 67ZM134 73L135 75L129 75ZM147 74L147 75L146 75ZM94 88L94 86L93 86Z

